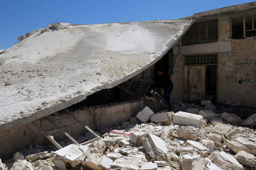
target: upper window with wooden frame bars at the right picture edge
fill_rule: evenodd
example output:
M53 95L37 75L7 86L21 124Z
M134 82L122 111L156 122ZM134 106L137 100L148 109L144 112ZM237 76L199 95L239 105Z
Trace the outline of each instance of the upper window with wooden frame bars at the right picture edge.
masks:
M232 39L256 36L256 14L232 18Z

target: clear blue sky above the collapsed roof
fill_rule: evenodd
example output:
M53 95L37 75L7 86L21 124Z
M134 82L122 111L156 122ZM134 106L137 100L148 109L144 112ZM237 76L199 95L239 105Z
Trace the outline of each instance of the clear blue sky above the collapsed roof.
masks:
M166 0L0 0L0 49L18 42L17 37L49 23L97 24L177 19L215 8L253 1Z

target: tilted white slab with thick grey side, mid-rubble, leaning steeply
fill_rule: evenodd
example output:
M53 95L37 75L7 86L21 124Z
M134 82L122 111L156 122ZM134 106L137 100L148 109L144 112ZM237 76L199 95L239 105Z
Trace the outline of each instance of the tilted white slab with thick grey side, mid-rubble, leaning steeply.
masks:
M166 143L163 139L154 134L147 133L141 138L142 145L150 158L157 158L157 160L164 160L167 153Z

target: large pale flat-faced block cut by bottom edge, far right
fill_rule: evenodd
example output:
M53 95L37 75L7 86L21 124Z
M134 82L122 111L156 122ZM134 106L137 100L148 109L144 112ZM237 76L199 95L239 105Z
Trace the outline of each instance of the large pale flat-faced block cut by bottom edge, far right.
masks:
M222 169L243 169L243 165L237 162L234 156L227 154L226 152L214 151L213 155L213 163Z

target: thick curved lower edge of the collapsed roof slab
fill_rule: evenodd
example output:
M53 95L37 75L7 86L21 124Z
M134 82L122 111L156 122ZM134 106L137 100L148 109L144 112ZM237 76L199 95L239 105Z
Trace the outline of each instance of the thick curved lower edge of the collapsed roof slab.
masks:
M94 94L94 92L97 92L97 91L100 91L104 88L113 88L115 86L117 86L118 84L121 84L123 82L126 82L127 80L129 80L130 78L133 78L135 75L138 75L139 73L141 73L142 71L148 69L148 67L154 65L154 63L158 62L160 58L162 58L171 48L172 46L174 46L179 40L180 38L184 35L184 33L191 27L191 25L193 24L193 22L195 22L195 20L191 19L191 22L187 23L185 26L184 26L184 30L183 32L179 35L179 37L176 38L176 40L171 40L171 44L170 42L168 44L164 44L166 45L168 48L159 56L159 57L156 57L154 59L154 61L150 62L148 65L144 66L142 69L139 69L137 71L135 71L134 73L132 74L129 74L113 83L110 83L108 85L106 84L103 84L102 86L100 87L95 87L92 89L92 92L89 94L89 95L92 95ZM87 96L89 96L87 95ZM80 96L77 96L77 97L74 97L72 98L71 100L68 100L68 101L65 101L63 103L60 103L60 104L56 104L56 105L53 105L49 108L46 108L46 109L43 109L43 110L40 110L38 112L35 112L35 113L32 113L30 114L30 116L27 116L27 117L22 117L22 118L18 118L16 120L13 120L13 121L10 121L10 122L6 122L6 124L2 124L0 126L0 133L2 133L3 131L5 130L9 130L9 129L13 129L13 128L16 128L18 126L22 126L24 124L27 124L29 122L32 122L32 121L35 121L35 120L38 120L39 118L42 118L42 117L46 117L48 116L49 114L52 114L52 113L55 113L55 112L58 112L62 109L65 109L73 104L76 104L76 103L79 103L80 101L82 100L85 100L86 97L85 95L80 95Z

